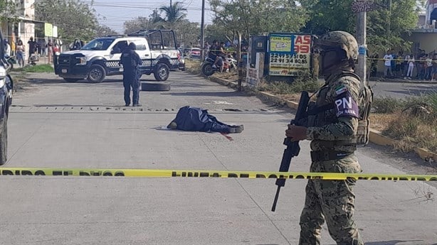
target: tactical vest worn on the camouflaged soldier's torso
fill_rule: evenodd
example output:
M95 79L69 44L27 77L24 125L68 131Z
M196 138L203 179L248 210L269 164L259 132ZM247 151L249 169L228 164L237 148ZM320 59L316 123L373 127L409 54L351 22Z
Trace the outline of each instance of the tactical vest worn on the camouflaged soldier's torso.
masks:
M337 79L340 77L351 76L360 80L359 77L353 72L342 72L337 75ZM335 111L335 104L333 102L327 102L327 92L330 90L330 85L325 85L317 92L317 101L310 102L307 108L307 126L325 126L327 124L333 124L337 121L337 115ZM337 146L342 145L358 145L365 146L369 143L369 113L373 101L372 88L369 85L361 85L359 89L358 97L358 129L356 136L351 140L335 141L332 142Z

